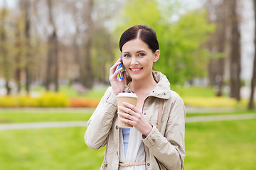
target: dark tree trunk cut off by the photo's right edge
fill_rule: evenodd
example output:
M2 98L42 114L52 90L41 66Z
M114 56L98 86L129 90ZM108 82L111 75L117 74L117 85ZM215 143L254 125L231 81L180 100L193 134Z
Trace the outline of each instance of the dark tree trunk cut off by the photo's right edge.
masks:
M255 12L255 23L256 23L256 0L253 1L254 12ZM256 28L255 28L255 57L253 62L253 72L252 72L252 82L251 82L251 93L250 93L250 102L249 109L254 109L254 95L255 95L255 84L256 84Z

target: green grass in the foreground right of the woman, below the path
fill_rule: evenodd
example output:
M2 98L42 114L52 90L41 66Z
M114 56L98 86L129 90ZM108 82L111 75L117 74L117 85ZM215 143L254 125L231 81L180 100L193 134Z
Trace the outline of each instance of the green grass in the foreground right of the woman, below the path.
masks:
M256 120L186 123L186 169L255 169Z

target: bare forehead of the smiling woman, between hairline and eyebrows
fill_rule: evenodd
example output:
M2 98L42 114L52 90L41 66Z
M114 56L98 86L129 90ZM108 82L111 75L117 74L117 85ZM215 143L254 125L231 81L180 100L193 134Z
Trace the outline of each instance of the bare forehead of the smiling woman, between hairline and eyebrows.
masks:
M139 50L144 50L144 51L150 50L149 45L147 45L145 42L143 42L139 38L134 40L129 40L122 46L122 52L134 52Z

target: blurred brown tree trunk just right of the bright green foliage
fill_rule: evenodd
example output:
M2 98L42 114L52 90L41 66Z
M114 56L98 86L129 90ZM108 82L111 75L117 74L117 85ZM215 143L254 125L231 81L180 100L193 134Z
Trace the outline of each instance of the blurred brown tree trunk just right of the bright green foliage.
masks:
M228 3L227 1L206 1L208 20L216 24L216 30L206 43L213 57L208 64L208 77L211 86L218 86L216 96L223 95L224 71L227 58L225 52L228 49L227 22L228 22Z

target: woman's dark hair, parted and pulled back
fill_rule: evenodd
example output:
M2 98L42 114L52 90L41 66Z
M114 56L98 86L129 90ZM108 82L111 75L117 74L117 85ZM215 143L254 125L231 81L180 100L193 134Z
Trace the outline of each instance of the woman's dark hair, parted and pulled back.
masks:
M145 25L135 25L122 33L121 38L119 40L119 49L122 52L122 46L128 42L129 40L134 40L136 38L141 39L152 50L152 52L156 52L159 50L159 42L156 38L156 32L150 28L149 26Z

